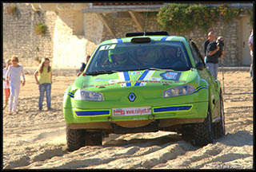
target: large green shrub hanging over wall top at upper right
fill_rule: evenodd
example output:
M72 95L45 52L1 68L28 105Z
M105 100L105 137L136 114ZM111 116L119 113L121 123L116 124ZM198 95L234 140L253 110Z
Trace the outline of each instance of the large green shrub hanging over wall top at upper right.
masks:
M195 27L207 31L211 25L221 19L230 22L233 18L238 18L239 14L246 13L250 14L250 21L253 21L252 10L230 8L228 4L214 7L171 3L159 10L157 20L161 29L187 33ZM253 25L253 22L250 22L250 25Z

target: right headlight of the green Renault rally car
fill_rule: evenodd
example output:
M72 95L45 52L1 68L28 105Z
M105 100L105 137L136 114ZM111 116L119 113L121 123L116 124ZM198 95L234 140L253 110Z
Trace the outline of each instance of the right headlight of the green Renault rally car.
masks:
M191 85L181 85L176 88L170 88L163 92L163 97L173 97L189 95L194 92L194 88Z

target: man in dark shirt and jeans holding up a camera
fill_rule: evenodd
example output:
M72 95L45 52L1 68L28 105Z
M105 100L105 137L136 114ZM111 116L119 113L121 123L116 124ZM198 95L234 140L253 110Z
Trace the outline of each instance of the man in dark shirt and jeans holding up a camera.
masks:
M218 77L218 60L224 56L224 37L218 37L216 41L210 42L206 50L206 66L215 80Z

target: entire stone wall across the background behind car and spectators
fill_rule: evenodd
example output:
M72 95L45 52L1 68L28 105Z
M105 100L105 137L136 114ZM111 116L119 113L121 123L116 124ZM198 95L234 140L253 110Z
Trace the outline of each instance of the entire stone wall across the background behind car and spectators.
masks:
M81 27L76 15L79 11L63 9L58 12L34 12L30 3L15 3L18 15L13 16L6 14L6 7L10 5L3 3L3 60L17 55L21 64L26 67L38 66L37 59L49 57L54 68L78 68L80 62L85 61L86 55L91 55L102 41L139 31L128 12L105 14L108 24L114 29L113 37L97 14L82 14L81 29L76 28ZM152 14L146 19L145 13L135 13L142 27L146 22L146 31L159 31L156 16ZM45 23L48 27L44 37L34 33L34 25L38 22ZM217 33L217 37L222 35L225 38L225 66L241 65L239 24L239 19L234 19L229 24L219 21L210 29ZM195 28L186 34L169 33L192 38L203 54L202 44L206 40L206 31Z

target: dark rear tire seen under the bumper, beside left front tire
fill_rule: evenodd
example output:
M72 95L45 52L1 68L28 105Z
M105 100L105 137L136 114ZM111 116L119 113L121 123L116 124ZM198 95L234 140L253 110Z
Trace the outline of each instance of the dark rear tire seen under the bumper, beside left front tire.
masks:
M85 145L86 146L101 146L103 140L102 132L86 132Z

